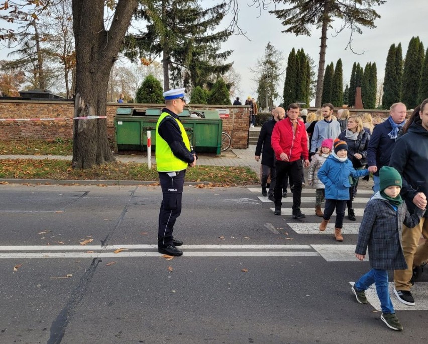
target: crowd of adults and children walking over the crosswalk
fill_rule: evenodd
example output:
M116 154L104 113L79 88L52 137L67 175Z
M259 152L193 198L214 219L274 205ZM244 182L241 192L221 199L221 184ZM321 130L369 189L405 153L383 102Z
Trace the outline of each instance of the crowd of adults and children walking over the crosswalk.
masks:
M275 203L275 215L281 215L283 181L290 177L293 190L292 217L303 219L300 211L304 168L308 186L316 189L315 215L323 217L319 225L325 231L336 210L335 239L343 241L345 208L355 221L352 201L360 177L373 176L373 196L361 219L357 259L369 250L371 270L352 287L361 304L366 304L365 290L373 283L382 309L381 320L391 329L402 330L388 292L388 270L394 270L394 294L406 305L415 305L410 289L428 261L428 99L406 121L406 106L395 103L389 117L371 114L350 116L348 109L333 115L332 104L324 104L316 113L299 121L300 108L290 104L282 116L273 115L266 124L271 136L259 137L256 160L267 154L273 161L262 174L262 194L267 195L267 173L276 183L269 199ZM306 113L305 113L306 114ZM337 119L336 119L337 118ZM269 145L270 143L270 145ZM265 161L265 162L263 162ZM322 203L325 209L322 210ZM398 220L398 221L397 221ZM420 238L423 237L420 243Z

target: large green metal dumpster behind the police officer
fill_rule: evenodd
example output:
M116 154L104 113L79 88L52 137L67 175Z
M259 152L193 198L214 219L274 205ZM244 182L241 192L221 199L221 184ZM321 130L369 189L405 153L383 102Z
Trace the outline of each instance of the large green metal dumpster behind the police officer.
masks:
M156 145L156 123L160 109L118 108L114 119L119 150L147 149L147 131L151 131L152 149ZM190 144L196 152L220 154L223 122L218 111L184 110L178 115Z

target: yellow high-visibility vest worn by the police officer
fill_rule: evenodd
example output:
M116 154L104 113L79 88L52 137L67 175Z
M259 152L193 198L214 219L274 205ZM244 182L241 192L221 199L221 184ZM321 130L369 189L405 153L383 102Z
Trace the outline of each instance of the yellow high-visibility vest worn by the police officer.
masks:
M169 147L168 143L159 135L158 132L159 124L166 116L171 115L167 112L163 112L158 119L158 123L156 123L156 168L159 172L181 171L182 169L185 169L187 167L188 163L177 158L172 153L172 150ZM180 128L181 137L183 138L184 145L190 151L189 138L187 137L183 125L177 118L174 118L174 120L177 122L178 127Z

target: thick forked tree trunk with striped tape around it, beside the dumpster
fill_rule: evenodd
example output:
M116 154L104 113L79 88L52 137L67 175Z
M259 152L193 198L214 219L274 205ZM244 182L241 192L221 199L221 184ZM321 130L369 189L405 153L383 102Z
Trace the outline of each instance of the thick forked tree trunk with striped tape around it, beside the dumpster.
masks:
M137 8L137 0L119 0L109 31L104 28L104 0L72 0L76 46L74 117L105 116L110 71ZM105 119L73 122L74 168L114 161Z

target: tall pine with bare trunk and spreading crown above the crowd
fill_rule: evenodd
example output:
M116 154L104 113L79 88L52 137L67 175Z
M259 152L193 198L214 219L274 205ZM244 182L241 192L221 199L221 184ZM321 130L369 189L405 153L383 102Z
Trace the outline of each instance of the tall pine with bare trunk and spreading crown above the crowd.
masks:
M286 27L282 32L294 33L296 36L310 36L313 26L321 28L321 46L319 50L318 78L316 83L315 106L321 106L323 95L323 74L326 63L327 30L335 19L342 20L343 26L351 30L347 47L351 46L354 32L361 34L360 26L375 28L374 21L380 16L373 9L374 5L382 5L384 0L276 0L290 7L270 11Z

